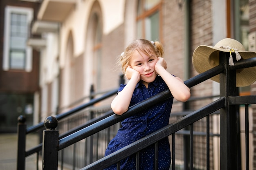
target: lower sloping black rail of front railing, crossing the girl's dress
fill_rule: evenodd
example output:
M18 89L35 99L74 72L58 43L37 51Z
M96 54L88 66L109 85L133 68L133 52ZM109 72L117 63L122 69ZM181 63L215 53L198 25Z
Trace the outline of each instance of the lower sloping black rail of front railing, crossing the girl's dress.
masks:
M129 155L135 154L136 152L139 152L139 150L144 149L155 142L163 139L166 136L172 135L178 130L181 130L185 128L186 126L189 126L190 124L193 124L195 121L198 121L202 119L203 117L206 117L207 115L210 115L211 113L215 112L216 110L219 110L225 105L225 97L221 97L220 99L217 99L216 101L212 102L211 104L204 106L200 110L197 110L189 115L186 115L182 117L181 119L177 120L173 124L169 124L165 126L164 128L161 128L152 134L141 138L132 144L121 148L117 150L116 152L103 157L99 159L98 161L95 161L94 163L91 163L90 165L80 169L80 170L89 170L89 169L102 169L106 168L108 166L111 166L114 163L117 163L117 161L120 161Z

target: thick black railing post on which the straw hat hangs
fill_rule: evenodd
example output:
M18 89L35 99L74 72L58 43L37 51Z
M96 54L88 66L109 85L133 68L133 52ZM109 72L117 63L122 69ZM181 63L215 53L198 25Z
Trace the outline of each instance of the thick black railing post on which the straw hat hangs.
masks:
M237 168L236 107L228 102L229 96L236 96L236 70L229 69L229 55L220 52L220 64L225 65L225 71L220 73L220 97L226 100L220 109L220 170Z

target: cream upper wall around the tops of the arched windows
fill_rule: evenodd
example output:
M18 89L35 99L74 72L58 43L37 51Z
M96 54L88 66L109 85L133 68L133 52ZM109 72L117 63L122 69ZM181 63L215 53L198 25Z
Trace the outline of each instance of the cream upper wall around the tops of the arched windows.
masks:
M70 32L74 38L74 57L84 53L85 36L90 11L95 0L79 1L76 10L63 22L60 31L60 66L64 66L65 48ZM124 22L125 0L99 0L103 15L103 34L108 34Z

